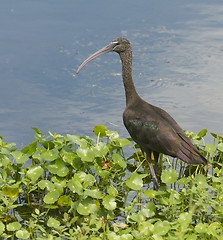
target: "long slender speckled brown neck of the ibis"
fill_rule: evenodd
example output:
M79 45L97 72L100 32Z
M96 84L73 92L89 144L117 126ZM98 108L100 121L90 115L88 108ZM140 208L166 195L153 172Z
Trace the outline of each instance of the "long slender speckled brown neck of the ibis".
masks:
M120 53L120 58L122 61L122 78L125 87L126 105L128 106L139 98L132 79L132 52L125 51Z

